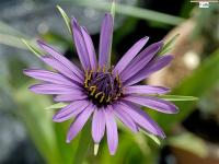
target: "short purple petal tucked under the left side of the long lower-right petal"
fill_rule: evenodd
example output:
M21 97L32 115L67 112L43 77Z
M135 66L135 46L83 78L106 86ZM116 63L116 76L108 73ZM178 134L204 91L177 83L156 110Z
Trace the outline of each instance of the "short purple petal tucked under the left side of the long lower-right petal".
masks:
M127 126L132 132L138 132L138 127L132 120L132 118L129 116L129 114L124 110L123 108L119 108L118 106L113 106L113 113L120 119L120 121Z

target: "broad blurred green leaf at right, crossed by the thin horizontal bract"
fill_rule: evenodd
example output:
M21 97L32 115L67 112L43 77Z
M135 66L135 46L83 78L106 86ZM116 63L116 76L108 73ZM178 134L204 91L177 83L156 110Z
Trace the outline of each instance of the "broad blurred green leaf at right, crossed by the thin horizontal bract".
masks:
M208 93L219 82L219 49L203 61L200 67L192 75L184 79L183 82L172 92L176 95L193 95L201 97ZM181 122L194 109L197 102L175 102L180 113L176 115L152 114L164 130L171 130L176 122Z

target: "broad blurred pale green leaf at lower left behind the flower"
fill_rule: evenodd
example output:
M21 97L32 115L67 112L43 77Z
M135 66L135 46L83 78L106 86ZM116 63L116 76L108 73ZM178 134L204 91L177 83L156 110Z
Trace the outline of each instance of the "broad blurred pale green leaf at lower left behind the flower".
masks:
M13 98L18 105L18 115L22 118L27 131L39 153L48 164L60 164L59 152L51 121L53 113L45 112L45 106L50 104L47 96L32 94L27 85L13 91Z

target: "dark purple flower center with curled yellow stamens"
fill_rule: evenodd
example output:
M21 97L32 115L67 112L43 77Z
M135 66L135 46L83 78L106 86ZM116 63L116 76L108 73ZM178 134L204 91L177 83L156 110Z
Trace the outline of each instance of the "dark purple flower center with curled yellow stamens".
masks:
M119 77L105 71L105 68L87 71L84 87L89 98L99 107L106 106L123 95Z

